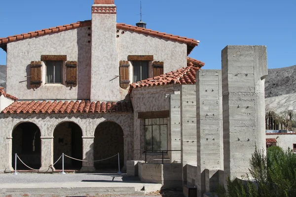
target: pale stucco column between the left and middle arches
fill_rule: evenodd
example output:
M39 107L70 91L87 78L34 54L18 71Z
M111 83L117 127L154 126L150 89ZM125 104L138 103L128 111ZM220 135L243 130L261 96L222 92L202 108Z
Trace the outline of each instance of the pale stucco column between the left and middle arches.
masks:
M41 136L41 167L39 171L54 171L53 137Z

